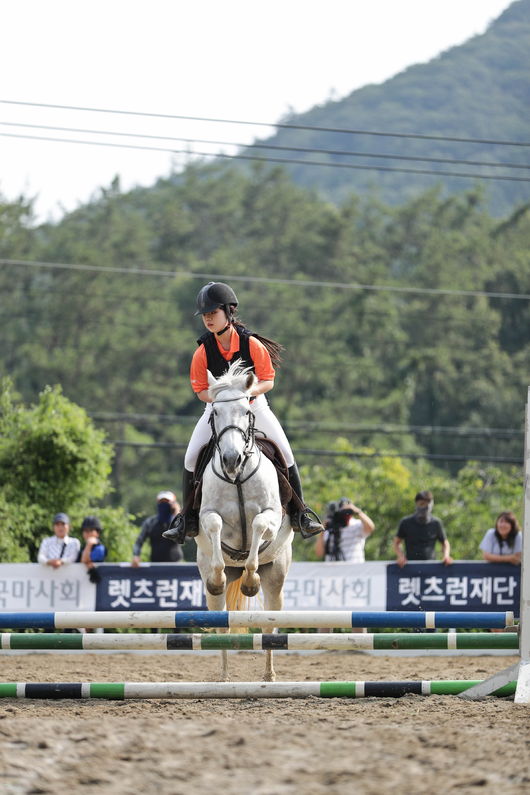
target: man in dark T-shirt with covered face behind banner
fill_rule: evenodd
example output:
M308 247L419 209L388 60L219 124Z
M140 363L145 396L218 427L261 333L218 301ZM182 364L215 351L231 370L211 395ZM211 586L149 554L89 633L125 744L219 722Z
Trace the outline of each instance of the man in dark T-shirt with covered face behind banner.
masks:
M414 501L415 512L401 520L394 538L396 563L403 567L409 560L435 560L434 547L439 541L442 545L442 563L449 566L453 562L450 556L451 547L441 520L432 515L434 506L432 493L420 491ZM403 542L405 552L403 552Z

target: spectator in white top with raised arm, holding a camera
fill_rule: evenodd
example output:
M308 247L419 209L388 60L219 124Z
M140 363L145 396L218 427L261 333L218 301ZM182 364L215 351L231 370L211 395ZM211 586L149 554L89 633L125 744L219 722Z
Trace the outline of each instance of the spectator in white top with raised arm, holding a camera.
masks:
M324 533L317 538L315 551L324 560L364 563L366 539L375 530L370 517L347 497L328 505Z

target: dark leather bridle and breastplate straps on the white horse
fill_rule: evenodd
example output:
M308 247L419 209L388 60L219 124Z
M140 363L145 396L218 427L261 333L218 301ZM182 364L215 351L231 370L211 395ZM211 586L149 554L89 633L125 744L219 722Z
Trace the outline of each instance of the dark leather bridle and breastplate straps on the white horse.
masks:
M229 388L229 387L225 387L225 388ZM221 391L221 390L219 390L219 391ZM259 465L261 463L261 450L259 449L259 447L255 446L255 440L256 440L255 417L254 417L254 413L249 408L247 410L248 428L247 428L246 431L244 431L238 425L226 425L222 429L222 431L220 433L217 433L216 428L215 428L215 412L213 410L213 406L215 406L216 403L232 403L232 402L234 402L236 400L249 400L249 398L247 397L247 395L241 395L241 397L225 398L224 400L213 400L212 401L212 413L210 414L210 419L208 420L208 422L210 423L210 427L212 429L212 440L213 440L215 449L219 453L219 462L221 464L221 470L222 470L221 472L218 472L217 469L215 468L215 455L214 455L212 457L212 459L211 459L213 473L220 480L224 480L225 483L231 483L232 485L234 485L236 487L236 489L237 489L237 498L238 498L238 503L239 503L239 521L241 523L241 549L234 549L233 547L231 547L228 544L226 544L224 541L221 541L221 549L224 552L226 552L227 555L230 555L230 557L233 560L246 560L246 558L248 558L250 550L246 549L246 546L247 546L247 517L246 517L246 514L245 514L245 500L244 500L244 497L243 497L243 483L246 483L247 480L250 480L250 478L258 471ZM223 463L223 455L221 453L221 448L219 446L219 442L222 439L223 434L225 434L227 431L231 431L231 430L232 431L238 431L238 433L240 433L243 436L243 441L245 442L245 446L243 448L243 463L241 464L239 472L238 472L238 474L236 475L235 478L230 478L228 476L228 473L226 472L226 469L225 469L225 466L224 466L224 463ZM254 453L257 453L256 466L250 472L248 472L244 477L242 477L243 474L244 474L245 467L246 467L246 465L248 463L248 460L249 460L249 458L252 455L254 455ZM263 544L261 544L261 546L260 546L260 548L258 550L258 555L261 554L265 549L267 549L267 547L269 546L270 543L271 543L270 541L264 541Z

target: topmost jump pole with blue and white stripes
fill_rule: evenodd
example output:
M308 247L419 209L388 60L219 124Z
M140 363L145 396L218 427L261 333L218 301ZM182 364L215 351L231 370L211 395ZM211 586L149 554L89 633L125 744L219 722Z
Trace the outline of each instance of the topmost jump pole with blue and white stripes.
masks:
M351 610L292 611L72 611L64 613L0 613L0 629L75 629L76 627L153 628L184 627L352 627L416 629L503 629L514 626L513 612L434 613L412 611L352 612Z

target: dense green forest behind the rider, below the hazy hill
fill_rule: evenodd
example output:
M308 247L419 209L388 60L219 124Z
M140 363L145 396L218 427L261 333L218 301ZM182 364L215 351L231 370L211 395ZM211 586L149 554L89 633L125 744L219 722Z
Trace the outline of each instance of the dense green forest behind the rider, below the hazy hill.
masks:
M5 516L25 501L31 526L38 495L10 473L27 443L14 418L43 400L49 416L75 406L74 426L112 450L79 511L141 517L160 488L179 491L201 411L188 378L195 296L215 279L285 348L271 402L314 507L354 498L378 526L368 556L388 559L399 516L431 488L457 553L474 558L493 514L520 516L529 209L499 218L478 188L440 186L399 206L331 204L280 168L222 164L125 193L116 179L53 224L36 224L29 199L0 199L0 514L2 499Z

